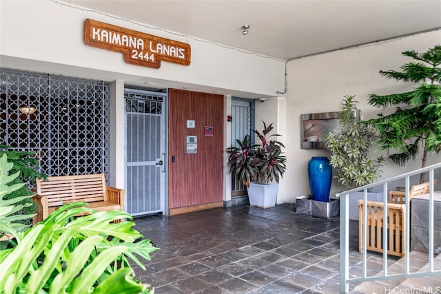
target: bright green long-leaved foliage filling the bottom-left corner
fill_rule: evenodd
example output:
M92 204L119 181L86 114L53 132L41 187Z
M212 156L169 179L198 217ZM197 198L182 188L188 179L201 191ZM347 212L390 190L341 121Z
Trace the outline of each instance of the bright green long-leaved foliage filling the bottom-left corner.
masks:
M23 185L6 185L18 176L8 174L11 168L3 155L1 197ZM134 222L114 223L132 220L130 214L96 212L77 202L20 232L12 225L23 218L14 214L23 205L19 200L1 200L0 233L11 237L0 249L0 293L150 293L151 286L134 277L130 260L145 269L137 256L150 260L158 249L132 229Z

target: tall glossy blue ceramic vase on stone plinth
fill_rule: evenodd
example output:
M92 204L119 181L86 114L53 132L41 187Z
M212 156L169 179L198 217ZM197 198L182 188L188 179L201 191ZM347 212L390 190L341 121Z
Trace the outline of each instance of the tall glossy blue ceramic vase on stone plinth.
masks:
M329 202L332 167L325 156L314 156L308 162L309 188L312 200Z

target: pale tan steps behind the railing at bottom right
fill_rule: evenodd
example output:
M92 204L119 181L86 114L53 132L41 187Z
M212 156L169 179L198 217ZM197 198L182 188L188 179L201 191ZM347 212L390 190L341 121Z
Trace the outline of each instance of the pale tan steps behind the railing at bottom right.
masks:
M418 271L426 271L428 269L429 255L418 251L411 251L409 253L409 269L411 273ZM404 258L400 258L387 268L389 275L404 273ZM441 269L441 255L435 256L433 260L433 269ZM378 273L382 275L382 273ZM410 289L418 289L418 293L440 293L441 275L430 277L412 277L406 279L391 279L375 282L362 282L356 286L351 293L408 293ZM413 293L413 292L409 292ZM415 292L417 293L417 292Z

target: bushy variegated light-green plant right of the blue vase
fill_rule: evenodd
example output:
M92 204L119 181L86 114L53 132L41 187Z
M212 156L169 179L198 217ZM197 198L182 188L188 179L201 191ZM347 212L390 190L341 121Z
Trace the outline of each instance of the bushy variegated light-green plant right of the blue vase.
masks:
M334 168L334 178L346 187L361 187L380 177L383 156L372 159L369 148L376 142L372 127L357 118L355 96L345 96L340 103L338 129L325 138L325 146L331 151L329 163Z

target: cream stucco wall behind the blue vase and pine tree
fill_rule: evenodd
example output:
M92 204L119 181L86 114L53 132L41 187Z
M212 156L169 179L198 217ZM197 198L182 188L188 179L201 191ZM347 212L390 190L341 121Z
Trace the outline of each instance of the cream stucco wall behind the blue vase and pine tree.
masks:
M382 43L329 52L296 59L287 63L286 145L288 169L284 177L283 202L295 202L296 196L310 194L307 162L311 156L329 156L321 149L301 149L300 114L335 112L345 95L356 95L363 119L376 117L380 109L367 104L369 94L393 94L412 89L409 83L388 80L379 70L399 70L411 61L401 52L425 52L441 43L441 32L427 32ZM380 154L378 154L380 155ZM441 161L441 154L431 154L427 165ZM389 178L421 167L420 158L398 167L387 158L382 178ZM438 176L439 178L439 176ZM331 194L344 190L334 179Z

